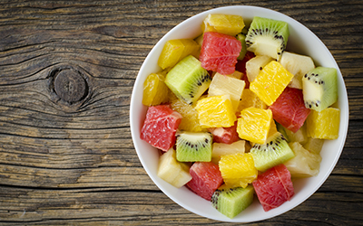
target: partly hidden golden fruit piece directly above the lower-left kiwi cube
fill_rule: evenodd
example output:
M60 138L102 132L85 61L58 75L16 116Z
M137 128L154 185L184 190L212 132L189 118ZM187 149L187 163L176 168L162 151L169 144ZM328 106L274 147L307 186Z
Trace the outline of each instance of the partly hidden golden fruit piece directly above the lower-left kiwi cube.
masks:
M198 111L194 106L188 104L182 99L178 99L173 93L169 95L171 108L178 111L182 115L182 122L179 125L180 130L191 132L206 132L206 128L202 128L198 118Z

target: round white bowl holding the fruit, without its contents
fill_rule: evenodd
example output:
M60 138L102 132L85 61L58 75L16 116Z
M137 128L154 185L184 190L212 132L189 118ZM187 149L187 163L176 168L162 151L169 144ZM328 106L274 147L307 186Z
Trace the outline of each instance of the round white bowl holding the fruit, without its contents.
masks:
M245 24L250 25L253 16L267 17L275 20L285 21L289 24L289 41L287 50L300 54L309 55L313 58L316 65L324 67L336 68L338 71L338 108L340 108L340 128L339 137L336 140L326 141L322 150L322 161L320 164L319 174L315 177L298 179L294 181L295 194L289 202L285 202L280 207L264 212L260 202L255 198L254 202L245 211L240 212L238 216L229 219L220 212L216 211L211 202L208 202L198 195L192 193L188 188L175 188L167 184L157 175L158 166L158 151L148 143L140 139L142 122L145 118L146 107L142 105L142 89L143 81L152 73L160 71L157 61L162 47L165 42L172 39L195 38L201 34L201 23L208 14L238 14L244 18ZM203 217L217 221L235 221L235 222L250 222L262 221L271 217L288 212L294 207L304 202L310 195L315 193L321 184L328 178L329 174L338 162L348 131L348 96L347 89L344 84L341 72L338 69L338 64L319 38L309 31L307 27L285 14L280 14L270 9L255 7L255 6L227 6L205 11L201 14L196 14L191 18L183 21L175 26L169 33L166 33L162 39L152 48L152 51L142 63L142 67L136 78L133 90L130 107L130 124L132 131L133 145L135 146L137 155L146 170L147 174L152 178L152 181L169 196L172 201L178 203L183 208L194 212Z

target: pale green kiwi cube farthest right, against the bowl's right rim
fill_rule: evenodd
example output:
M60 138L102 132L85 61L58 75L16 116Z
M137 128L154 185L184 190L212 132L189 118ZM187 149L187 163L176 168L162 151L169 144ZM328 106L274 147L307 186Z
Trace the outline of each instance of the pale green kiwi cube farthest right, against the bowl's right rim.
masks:
M317 67L302 78L302 93L306 108L321 111L338 99L337 70Z

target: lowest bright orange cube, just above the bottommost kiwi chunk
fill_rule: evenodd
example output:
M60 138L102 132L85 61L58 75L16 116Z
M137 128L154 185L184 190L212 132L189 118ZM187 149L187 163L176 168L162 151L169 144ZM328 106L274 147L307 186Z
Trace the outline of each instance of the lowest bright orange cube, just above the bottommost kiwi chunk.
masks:
M250 153L221 155L219 165L223 181L228 186L245 188L257 178L258 171Z

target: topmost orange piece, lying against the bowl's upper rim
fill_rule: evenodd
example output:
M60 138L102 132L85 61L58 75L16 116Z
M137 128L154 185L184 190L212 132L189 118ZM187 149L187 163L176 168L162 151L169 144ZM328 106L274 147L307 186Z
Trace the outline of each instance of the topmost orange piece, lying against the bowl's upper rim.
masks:
M208 14L201 24L203 33L216 32L237 35L244 27L243 18L233 14Z

